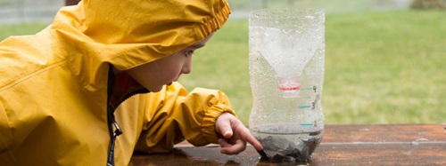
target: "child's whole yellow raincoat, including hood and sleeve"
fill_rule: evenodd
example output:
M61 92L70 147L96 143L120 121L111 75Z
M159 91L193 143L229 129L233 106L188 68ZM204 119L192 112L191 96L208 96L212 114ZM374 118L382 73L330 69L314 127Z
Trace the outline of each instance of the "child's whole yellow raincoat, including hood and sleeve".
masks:
M5 39L0 165L128 165L134 150L167 152L184 138L216 143L216 118L235 114L224 93L173 83L112 100L123 83L114 83L111 66L127 70L180 51L221 28L229 12L225 0L83 0L36 35Z

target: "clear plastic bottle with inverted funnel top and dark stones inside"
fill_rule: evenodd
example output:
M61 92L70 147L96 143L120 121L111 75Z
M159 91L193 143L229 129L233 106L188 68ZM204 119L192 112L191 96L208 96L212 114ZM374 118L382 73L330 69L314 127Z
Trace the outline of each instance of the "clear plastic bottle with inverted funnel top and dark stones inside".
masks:
M325 14L263 9L249 18L249 128L276 162L305 162L325 126Z

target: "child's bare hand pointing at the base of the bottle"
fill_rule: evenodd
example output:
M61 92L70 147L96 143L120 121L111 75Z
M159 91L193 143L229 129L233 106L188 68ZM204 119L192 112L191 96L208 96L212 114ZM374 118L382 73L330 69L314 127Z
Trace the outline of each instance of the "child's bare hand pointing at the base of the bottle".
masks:
M239 154L246 148L246 142L254 146L256 150L263 149L259 140L254 138L250 130L232 114L220 115L215 122L215 130L223 136L219 138L221 154Z

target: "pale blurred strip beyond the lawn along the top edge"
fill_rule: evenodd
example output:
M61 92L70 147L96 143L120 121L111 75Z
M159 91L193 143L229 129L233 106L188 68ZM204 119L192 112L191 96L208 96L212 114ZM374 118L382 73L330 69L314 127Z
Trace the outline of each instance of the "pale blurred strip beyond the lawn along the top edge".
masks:
M64 5L79 0L0 0L0 24L51 22ZM322 8L327 12L359 12L408 8L412 0L227 0L231 19L246 19L260 8Z

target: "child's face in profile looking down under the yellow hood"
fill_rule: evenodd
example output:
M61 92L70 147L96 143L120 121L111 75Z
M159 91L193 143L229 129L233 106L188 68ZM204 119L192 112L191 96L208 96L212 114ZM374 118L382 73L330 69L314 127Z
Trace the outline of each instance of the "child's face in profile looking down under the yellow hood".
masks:
M188 74L192 71L192 54L195 50L204 46L212 35L213 33L186 49L165 58L130 68L127 70L128 75L149 91L161 91L162 86L176 82L181 74Z

